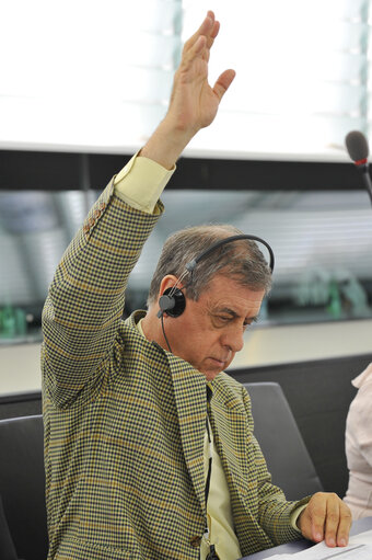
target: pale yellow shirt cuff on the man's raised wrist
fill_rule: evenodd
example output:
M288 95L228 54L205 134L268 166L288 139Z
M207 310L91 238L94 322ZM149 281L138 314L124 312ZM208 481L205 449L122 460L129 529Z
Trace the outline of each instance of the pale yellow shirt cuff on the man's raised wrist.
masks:
M152 214L175 169L167 170L136 153L116 175L115 194L132 208Z

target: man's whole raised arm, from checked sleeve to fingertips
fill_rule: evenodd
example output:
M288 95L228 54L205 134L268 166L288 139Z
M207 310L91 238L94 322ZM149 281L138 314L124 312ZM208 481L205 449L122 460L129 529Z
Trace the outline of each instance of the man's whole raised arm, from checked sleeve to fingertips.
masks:
M185 44L168 111L141 150L164 168L172 169L193 136L214 119L234 78L226 70L213 88L208 84L209 55L218 32L219 23L208 12ZM120 190L128 181L135 190L137 185L146 193L153 190L153 174L143 179L137 165L127 165L119 175ZM152 214L127 204L132 198L119 197L116 186L108 184L67 249L44 308L44 387L59 407L84 393L91 398L104 382L103 364L116 344L128 275L162 212L161 204ZM120 358L119 348L114 354Z

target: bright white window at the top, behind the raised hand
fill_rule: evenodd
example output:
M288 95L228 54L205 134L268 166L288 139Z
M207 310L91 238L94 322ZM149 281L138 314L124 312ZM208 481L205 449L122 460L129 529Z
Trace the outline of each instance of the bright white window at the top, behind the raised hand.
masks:
M222 22L210 78L235 68L218 125L186 153L345 158L369 132L369 0L20 0L2 7L0 145L131 152L164 115L182 43Z

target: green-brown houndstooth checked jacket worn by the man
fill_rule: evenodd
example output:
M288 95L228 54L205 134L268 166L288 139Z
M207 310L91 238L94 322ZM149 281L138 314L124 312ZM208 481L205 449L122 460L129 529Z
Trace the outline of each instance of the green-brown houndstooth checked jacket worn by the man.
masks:
M43 313L49 556L191 560L205 529L206 378L121 320L127 278L162 214L108 184L67 249ZM143 312L142 312L143 315ZM210 407L243 555L298 538L226 374ZM222 559L223 560L223 559Z

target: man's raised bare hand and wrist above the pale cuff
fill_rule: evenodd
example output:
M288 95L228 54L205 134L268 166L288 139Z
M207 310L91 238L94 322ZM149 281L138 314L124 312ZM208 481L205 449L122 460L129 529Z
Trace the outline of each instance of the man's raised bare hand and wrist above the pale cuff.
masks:
M213 87L209 85L210 49L219 30L219 22L209 11L198 31L185 43L167 113L140 156L172 169L197 132L213 122L221 99L235 77L234 70L225 70Z

